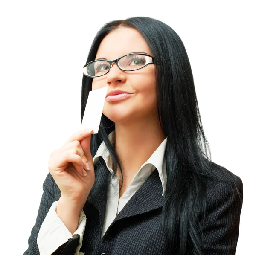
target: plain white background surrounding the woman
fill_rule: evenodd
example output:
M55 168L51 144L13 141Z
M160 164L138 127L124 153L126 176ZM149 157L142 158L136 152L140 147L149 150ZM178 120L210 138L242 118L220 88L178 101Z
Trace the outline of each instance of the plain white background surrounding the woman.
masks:
M182 39L212 161L244 184L238 255L255 251L254 1L3 1L1 254L23 254L50 153L80 127L83 65L111 20L148 16ZM253 17L254 16L254 17Z

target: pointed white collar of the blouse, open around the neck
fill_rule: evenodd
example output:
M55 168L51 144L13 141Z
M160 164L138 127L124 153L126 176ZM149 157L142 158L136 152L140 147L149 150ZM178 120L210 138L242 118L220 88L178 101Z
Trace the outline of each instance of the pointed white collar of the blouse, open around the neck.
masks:
M113 130L109 135L108 138L110 141L112 141L113 136L115 135L115 130ZM151 155L151 157L141 166L140 170L142 168L145 168L145 171L138 171L137 174L134 176L134 179L132 182L137 181L143 181L145 180L154 170L157 168L157 171L159 173L160 180L162 182L162 188L163 188L163 194L165 194L166 191L166 161L165 161L165 150L166 150L166 144L167 144L167 137L163 140L163 142L158 146L158 148L154 151L154 153ZM93 157L93 165L95 164L95 160L99 157L102 157L104 161L106 162L108 170L112 173L112 158L111 155L105 145L105 142L103 141L101 145L99 146L95 156Z

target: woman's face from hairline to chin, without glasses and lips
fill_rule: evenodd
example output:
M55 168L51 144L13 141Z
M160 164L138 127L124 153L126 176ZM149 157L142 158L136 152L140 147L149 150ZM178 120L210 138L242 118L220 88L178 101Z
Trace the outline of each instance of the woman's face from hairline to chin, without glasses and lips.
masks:
M137 29L122 28L110 32L99 45L96 58L114 60L131 52L145 52L152 56L143 36ZM124 90L132 95L120 101L105 100L103 114L113 122L138 122L152 118L157 113L155 66L135 71L122 71L116 63L101 77L93 78L92 90L108 85L107 93L112 90Z

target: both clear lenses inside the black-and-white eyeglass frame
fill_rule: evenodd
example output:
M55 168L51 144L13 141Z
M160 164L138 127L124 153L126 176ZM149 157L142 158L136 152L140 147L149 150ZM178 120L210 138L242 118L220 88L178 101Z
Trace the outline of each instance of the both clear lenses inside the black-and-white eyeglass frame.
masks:
M144 55L132 54L124 56L118 61L119 67L125 71L131 71L139 69L146 64L146 58ZM91 76L100 76L108 72L110 64L107 61L99 60L89 64L85 67L87 74Z

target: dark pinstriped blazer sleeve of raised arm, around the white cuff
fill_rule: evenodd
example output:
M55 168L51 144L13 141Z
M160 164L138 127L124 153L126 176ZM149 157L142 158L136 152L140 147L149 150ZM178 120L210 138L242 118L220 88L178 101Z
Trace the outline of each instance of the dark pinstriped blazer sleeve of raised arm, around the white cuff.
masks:
M36 218L35 225L31 230L31 235L28 240L29 248L24 252L23 255L40 255L37 237L40 227L49 212L50 207L54 201L58 201L59 189L56 185L52 175L49 173L43 183L43 195L38 209L38 215ZM53 255L74 255L76 247L79 245L79 235L76 238L70 238L67 243L61 245Z

